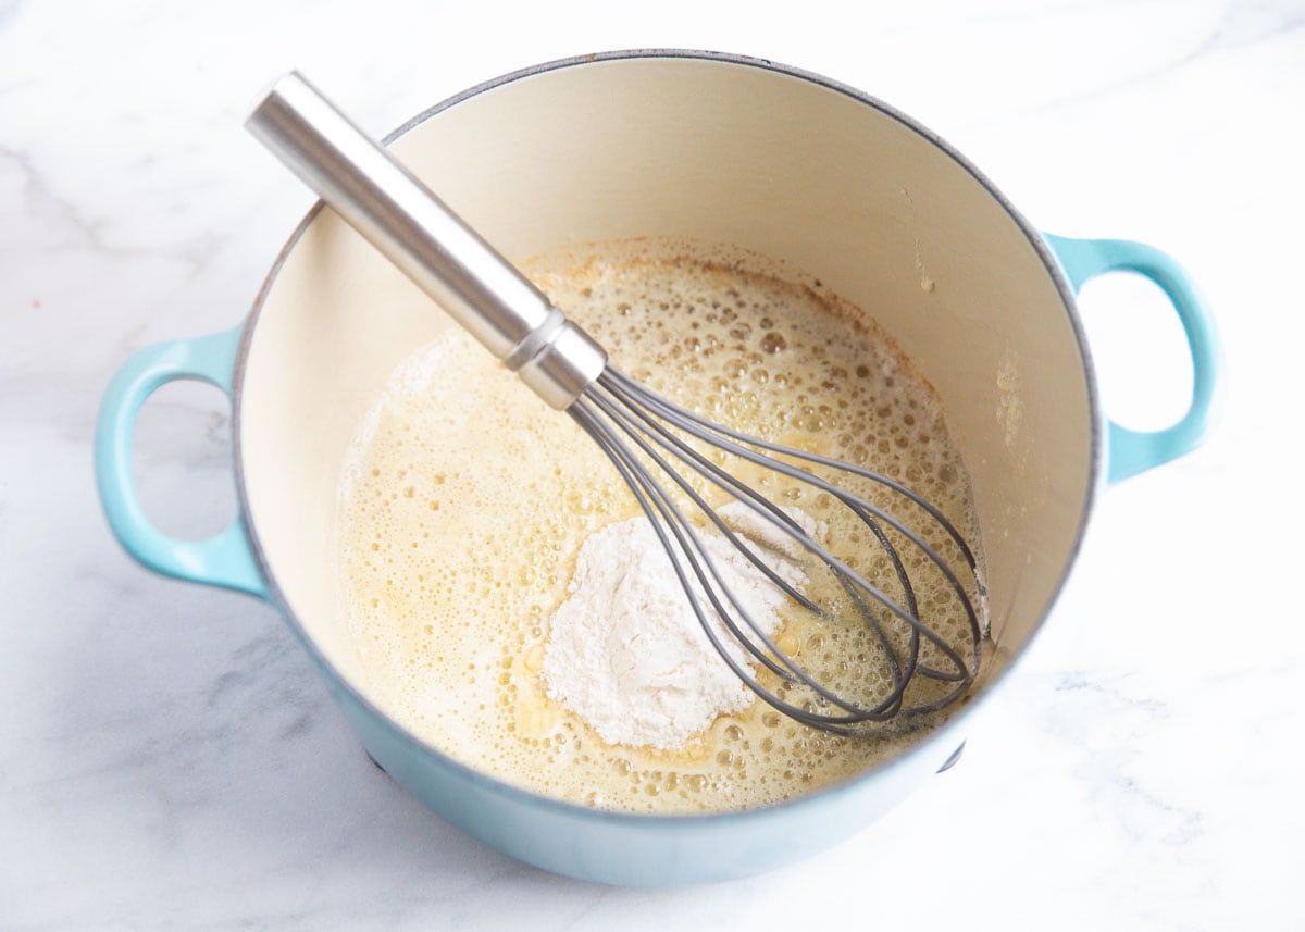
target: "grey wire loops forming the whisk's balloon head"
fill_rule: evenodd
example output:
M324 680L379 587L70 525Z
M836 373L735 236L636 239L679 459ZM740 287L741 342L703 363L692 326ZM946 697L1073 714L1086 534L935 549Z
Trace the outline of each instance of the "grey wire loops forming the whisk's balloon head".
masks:
M707 420L650 393L611 364L608 364L595 384L586 389L569 411L613 462L619 474L634 493L641 509L652 523L662 547L671 559L672 568L684 589L694 616L713 647L720 654L735 675L767 704L804 724L837 734L860 735L865 734L867 723L886 722L899 715L917 715L933 711L955 701L968 689L970 683L977 674L981 640L980 624L970 595L947 563L917 533L881 506L833 484L809 470L778 459L774 456L767 456L767 453L859 475L916 503L929 517L937 521L946 536L958 546L960 553L970 564L975 587L981 594L981 583L972 552L964 544L963 538L955 527L930 503L900 483L872 470L750 437ZM904 604L900 604L861 573L834 556L779 505L714 463L701 450L689 444L680 432L688 435L688 437L713 444L723 449L727 454L737 456L746 462L773 470L791 480L805 483L838 499L870 529L877 543L886 553L891 564L893 576L902 589L902 602ZM673 501L668 488L658 480L652 469L667 476L693 506L710 521L720 536L736 547L771 583L803 608L816 612L826 621L833 620L827 610L812 602L761 560L754 548L743 542L735 530L716 513L716 509L707 504L702 493L684 475L684 470L668 462L667 456L673 457L676 461L684 463L684 466L698 473L710 484L727 492L735 500L748 505L788 539L799 544L806 553L812 555L817 565L823 565L833 574L856 607L852 615L869 625L887 667L890 688L874 705L857 705L820 683L800 663L790 657L787 651L780 649L775 640L740 604L731 586L722 578L720 570L705 547L697 526ZM911 546L916 547L942 573L949 587L960 600L970 628L970 638L974 645L972 662L967 662L946 638L920 619L915 586L911 582L906 563L898 547L890 539L886 527L900 534ZM697 581L697 586L693 581ZM703 598L706 599L706 604L703 603ZM886 610L891 617L907 625L907 644L904 646L894 646L893 638L880 620L878 611L870 604L872 602L880 606L881 610ZM740 662L723 642L722 633L711 621L713 617L719 619L729 637L770 672L788 684L800 684L809 689L813 693L813 701L797 706L775 691L763 687L757 676L753 675L750 667ZM937 668L923 660L921 649L925 642L941 655L941 659L945 662L944 668ZM907 688L917 675L957 685L933 701L917 701L914 705L907 705Z

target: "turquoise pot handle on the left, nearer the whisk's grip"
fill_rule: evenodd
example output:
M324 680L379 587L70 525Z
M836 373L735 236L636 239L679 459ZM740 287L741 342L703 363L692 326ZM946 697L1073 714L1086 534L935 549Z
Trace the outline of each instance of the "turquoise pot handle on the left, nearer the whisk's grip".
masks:
M154 392L177 379L205 381L231 397L240 326L137 350L114 376L95 423L95 482L115 536L141 564L177 580L268 598L244 521L207 540L176 540L145 517L132 476L136 416Z

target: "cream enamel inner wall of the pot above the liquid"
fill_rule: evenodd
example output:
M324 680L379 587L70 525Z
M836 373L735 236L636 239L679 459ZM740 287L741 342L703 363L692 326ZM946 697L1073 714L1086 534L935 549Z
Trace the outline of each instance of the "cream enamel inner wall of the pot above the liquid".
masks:
M1026 232L927 137L790 73L633 57L482 90L394 150L509 260L690 236L784 260L860 305L942 398L974 483L1001 653L1036 629L1091 491L1082 350ZM270 283L248 346L248 520L295 617L364 694L338 607L339 467L393 367L450 325L322 210ZM561 415L540 403L540 416Z

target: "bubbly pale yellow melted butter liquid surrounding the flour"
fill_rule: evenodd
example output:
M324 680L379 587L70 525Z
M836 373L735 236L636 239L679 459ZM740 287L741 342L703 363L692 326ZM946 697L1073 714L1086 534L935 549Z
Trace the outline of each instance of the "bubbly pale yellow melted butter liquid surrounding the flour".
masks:
M818 282L672 241L573 249L526 270L652 390L765 440L899 478L974 542L968 480L930 389ZM829 522L826 542L860 572L890 578L864 525L829 496L769 491ZM853 491L924 526L910 521L914 505L868 484ZM662 813L809 792L899 753L947 713L843 738L757 701L677 751L606 744L548 698L540 668L585 538L639 513L592 440L459 329L416 351L359 431L341 487L348 623L377 701L432 745L510 783ZM959 561L940 534L930 542ZM972 659L959 603L937 573L915 569L921 611L936 612L933 627ZM887 689L864 632L793 617L779 642L816 672L867 684L865 698ZM923 657L941 664L928 647ZM921 700L945 692L911 689Z

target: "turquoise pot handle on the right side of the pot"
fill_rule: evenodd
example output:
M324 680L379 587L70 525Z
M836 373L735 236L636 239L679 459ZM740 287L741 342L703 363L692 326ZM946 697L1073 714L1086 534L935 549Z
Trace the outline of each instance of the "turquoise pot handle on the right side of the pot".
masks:
M1074 292L1107 272L1135 272L1160 287L1178 312L1191 352L1191 403L1173 426L1130 431L1109 422L1107 480L1121 482L1195 449L1205 439L1218 396L1221 351L1210 308L1188 273L1169 255L1122 239L1069 239L1043 234Z

